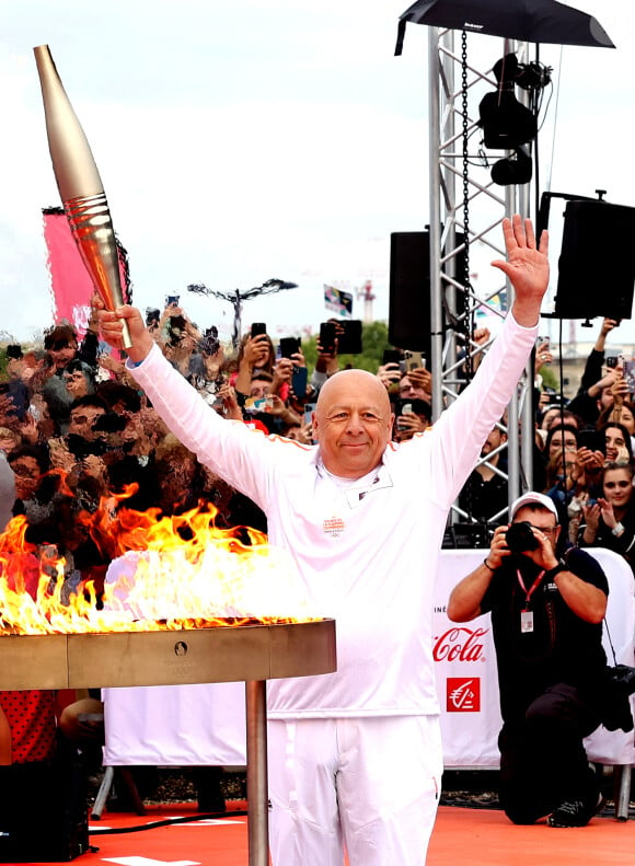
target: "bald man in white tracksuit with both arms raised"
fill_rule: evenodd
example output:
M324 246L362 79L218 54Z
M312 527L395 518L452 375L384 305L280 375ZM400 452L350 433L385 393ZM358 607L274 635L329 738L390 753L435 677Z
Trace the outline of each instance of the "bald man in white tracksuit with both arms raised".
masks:
M217 415L163 358L130 307L102 333L198 459L267 515L311 608L336 620L336 673L268 691L275 866L422 866L442 753L431 657L432 590L447 513L500 418L535 342L549 282L546 233L505 221L515 303L470 386L431 430L397 446L383 385L336 373L315 415L318 446Z

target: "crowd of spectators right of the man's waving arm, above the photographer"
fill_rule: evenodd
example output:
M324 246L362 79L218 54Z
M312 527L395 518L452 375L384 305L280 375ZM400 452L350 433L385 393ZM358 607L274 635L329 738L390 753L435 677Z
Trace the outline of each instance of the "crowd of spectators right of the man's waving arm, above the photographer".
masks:
M532 487L556 506L563 541L578 546L609 547L635 571L635 503L633 444L635 386L622 355L605 355L607 337L619 322L604 319L575 396L558 399L541 388L541 369L553 360L549 343L536 347L535 430ZM494 529L507 522L506 429L492 432L483 463L463 490L460 505L467 519Z

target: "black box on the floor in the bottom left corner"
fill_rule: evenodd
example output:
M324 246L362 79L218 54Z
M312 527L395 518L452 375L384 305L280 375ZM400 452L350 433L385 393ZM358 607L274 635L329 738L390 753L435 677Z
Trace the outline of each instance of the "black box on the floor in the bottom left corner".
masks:
M0 766L0 863L62 863L89 850L85 771L54 763Z

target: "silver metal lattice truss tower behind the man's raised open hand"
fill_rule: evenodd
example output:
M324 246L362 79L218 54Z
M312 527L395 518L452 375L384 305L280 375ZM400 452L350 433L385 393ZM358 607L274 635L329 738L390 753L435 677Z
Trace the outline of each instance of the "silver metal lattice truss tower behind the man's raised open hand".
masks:
M430 322L432 416L437 418L443 406L457 399L465 384L464 368L470 371L478 363L492 343L496 324L511 305L511 286L501 272L489 267L489 262L505 257L500 226L504 217L513 212L530 216L530 184L494 184L478 126L480 102L497 88L494 63L509 51L516 51L523 60L527 44L437 27L428 30ZM455 39L461 42L459 51ZM471 57L472 48L480 56L487 56L487 68L478 68ZM475 254L482 259L484 253L484 270L492 274L471 273ZM475 287L482 276L486 277L486 285ZM486 322L492 333L485 343L473 338L480 322ZM466 374L469 378L470 372ZM507 451L507 472L489 464L494 472L507 477L509 503L532 486L532 386L533 373L528 365L503 425L508 437L501 447ZM497 517L505 516L488 516ZM471 520L455 505L450 520L455 522L459 518ZM475 522L473 518L472 521Z

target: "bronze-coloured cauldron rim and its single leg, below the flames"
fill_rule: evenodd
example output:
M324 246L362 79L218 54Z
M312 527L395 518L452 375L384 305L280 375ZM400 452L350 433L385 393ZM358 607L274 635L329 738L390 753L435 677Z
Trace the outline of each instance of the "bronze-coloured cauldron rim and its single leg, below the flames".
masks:
M245 683L249 866L268 866L266 681L336 670L335 622L0 636L0 690Z

